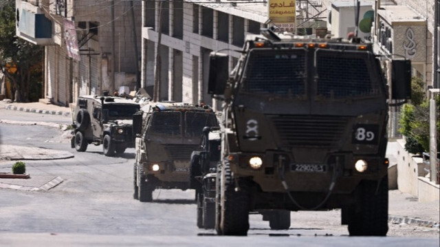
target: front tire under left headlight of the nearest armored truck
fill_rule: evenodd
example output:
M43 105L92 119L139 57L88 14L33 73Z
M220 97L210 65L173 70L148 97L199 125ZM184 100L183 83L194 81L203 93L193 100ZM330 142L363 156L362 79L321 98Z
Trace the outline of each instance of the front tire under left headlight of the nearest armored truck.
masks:
M225 163L223 184L224 197L220 194L220 224L217 228L219 235L248 235L249 230L249 192L248 184L240 182L240 191L234 190L234 180L230 171L229 164Z

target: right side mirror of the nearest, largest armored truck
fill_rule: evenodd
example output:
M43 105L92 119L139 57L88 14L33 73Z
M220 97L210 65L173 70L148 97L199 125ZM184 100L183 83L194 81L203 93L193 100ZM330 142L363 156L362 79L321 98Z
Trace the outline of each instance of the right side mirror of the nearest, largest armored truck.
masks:
M411 98L411 61L391 61L391 98L408 100Z

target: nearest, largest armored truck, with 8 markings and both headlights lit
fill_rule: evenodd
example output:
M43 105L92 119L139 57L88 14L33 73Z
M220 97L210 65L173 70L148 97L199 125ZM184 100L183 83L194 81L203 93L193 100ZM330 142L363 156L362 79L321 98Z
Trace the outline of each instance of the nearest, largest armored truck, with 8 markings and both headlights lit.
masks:
M247 235L249 212L283 227L285 211L341 208L350 235L386 235L388 85L372 44L268 29L241 54L229 75L210 55L208 91L225 101L217 233ZM409 88L410 61L389 65L392 91Z

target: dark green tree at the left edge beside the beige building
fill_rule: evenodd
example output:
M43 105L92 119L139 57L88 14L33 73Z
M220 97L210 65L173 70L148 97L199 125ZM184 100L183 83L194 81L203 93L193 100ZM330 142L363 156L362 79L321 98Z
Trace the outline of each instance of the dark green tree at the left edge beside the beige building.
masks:
M41 82L43 47L16 36L15 1L0 2L0 69L10 80L12 100L30 101ZM18 90L17 98L14 98ZM36 98L39 98L38 96Z

